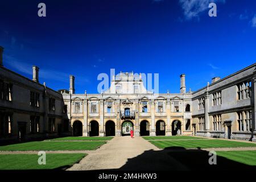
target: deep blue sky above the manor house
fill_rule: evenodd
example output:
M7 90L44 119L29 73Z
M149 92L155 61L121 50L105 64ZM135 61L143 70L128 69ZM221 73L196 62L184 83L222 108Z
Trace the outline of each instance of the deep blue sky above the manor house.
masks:
M38 3L46 3L46 17ZM208 16L215 2L217 17ZM179 93L179 75L197 90L256 60L256 1L90 0L1 1L3 64L26 77L40 68L55 90L97 93L110 68L159 73L159 91Z

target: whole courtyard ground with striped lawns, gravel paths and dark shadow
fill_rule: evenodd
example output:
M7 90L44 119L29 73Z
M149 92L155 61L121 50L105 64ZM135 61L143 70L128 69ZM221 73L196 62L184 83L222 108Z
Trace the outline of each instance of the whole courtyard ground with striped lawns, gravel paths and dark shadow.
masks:
M46 152L39 165L38 151ZM210 165L209 151L217 154ZM0 146L0 169L255 169L256 143L203 137L64 137Z

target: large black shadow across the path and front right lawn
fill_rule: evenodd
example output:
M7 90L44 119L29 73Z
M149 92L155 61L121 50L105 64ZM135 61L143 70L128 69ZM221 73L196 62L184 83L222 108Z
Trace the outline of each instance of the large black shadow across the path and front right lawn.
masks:
M212 155L210 155L212 156ZM135 158L128 159L126 164L118 170L255 170L256 166L249 166L233 160L217 156L217 164L210 165L209 152L197 148L185 150L183 147L167 147L164 150L144 151Z

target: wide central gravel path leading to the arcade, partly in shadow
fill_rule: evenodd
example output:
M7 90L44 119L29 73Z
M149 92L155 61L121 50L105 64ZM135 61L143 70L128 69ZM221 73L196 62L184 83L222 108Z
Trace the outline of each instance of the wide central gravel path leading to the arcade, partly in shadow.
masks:
M91 152L68 171L119 170L175 170L187 168L142 137L115 137ZM172 164L172 165L170 165Z

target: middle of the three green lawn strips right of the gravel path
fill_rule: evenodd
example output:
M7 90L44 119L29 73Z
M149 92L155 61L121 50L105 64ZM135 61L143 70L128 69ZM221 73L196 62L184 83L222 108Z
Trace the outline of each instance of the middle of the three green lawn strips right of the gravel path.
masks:
M222 147L256 147L255 143L234 142L218 139L201 140L150 140L150 143L159 148L183 147L183 148L222 148Z

